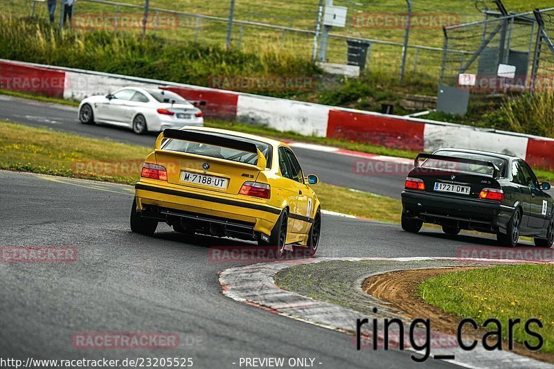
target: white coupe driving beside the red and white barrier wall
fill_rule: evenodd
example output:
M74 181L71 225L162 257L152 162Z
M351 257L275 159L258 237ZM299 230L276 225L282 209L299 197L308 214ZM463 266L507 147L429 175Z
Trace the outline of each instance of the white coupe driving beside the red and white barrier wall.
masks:
M106 96L89 96L79 105L79 120L129 127L136 134L204 125L200 109L175 92L154 87L125 87Z

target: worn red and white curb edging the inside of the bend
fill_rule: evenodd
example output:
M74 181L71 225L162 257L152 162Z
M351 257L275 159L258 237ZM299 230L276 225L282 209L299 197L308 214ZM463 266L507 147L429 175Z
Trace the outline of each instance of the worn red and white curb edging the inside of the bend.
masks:
M409 269L406 267L403 269L402 262L426 260L442 260L445 262L445 267L452 267L456 261L460 261L460 259L456 258L314 258L287 260L283 262L278 261L251 264L244 267L226 269L220 272L220 284L222 285L223 294L225 296L233 298L233 300L240 301L241 303L246 303L248 305L265 309L274 314L287 316L297 321L303 321L305 323L325 327L330 330L355 334L357 319L368 318L371 322L373 318L383 318L383 312L389 315L388 318L402 319L402 316L398 315L398 312L395 314L395 310L391 309L390 304L379 301L373 298L373 296L370 297L372 297L373 300L379 304L379 316L368 316L360 312L347 309L346 307L314 300L291 291L280 289L274 281L276 273L295 265L329 261L392 261L398 262L398 264L391 267L390 271L399 271ZM526 262L523 260L492 260L476 258L464 258L463 261L481 263L490 262L497 264ZM370 275L371 273L368 276ZM355 282L357 282L359 286L357 286L357 290L352 291L352 293L365 294L365 292L361 290L361 281ZM388 308L387 305L389 305ZM405 321L405 318L402 320ZM368 330L364 330L364 332L369 332L369 328ZM447 338L449 340L456 341L456 336L454 335L442 334L438 332L434 332L433 334L439 334L443 337L443 339ZM393 334L390 337L389 342L392 346L395 344L397 345L399 343L397 335ZM352 350L355 350L353 345ZM410 347L406 348L406 350L418 352ZM438 357L440 355L454 355L455 359L445 359L444 361L464 368L554 368L554 366L550 363L544 363L529 357L523 357L513 352L487 351L481 345L477 345L477 347L472 351L464 351L458 347L432 348L431 354L434 357Z

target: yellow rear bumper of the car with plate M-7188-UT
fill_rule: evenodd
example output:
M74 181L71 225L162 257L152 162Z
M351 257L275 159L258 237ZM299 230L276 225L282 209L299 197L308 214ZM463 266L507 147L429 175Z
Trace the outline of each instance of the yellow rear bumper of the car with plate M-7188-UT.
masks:
M152 183L136 183L135 196L138 211L142 211L144 206L155 206L199 216L229 219L251 224L254 232L268 236L281 213L279 208L267 204L215 197L172 186L155 186Z

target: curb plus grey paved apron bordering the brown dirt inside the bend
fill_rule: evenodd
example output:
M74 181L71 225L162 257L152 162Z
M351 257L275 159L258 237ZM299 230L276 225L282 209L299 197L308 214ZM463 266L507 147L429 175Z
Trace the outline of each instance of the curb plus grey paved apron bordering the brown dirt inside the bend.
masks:
M373 319L377 319L379 339L383 332L382 321L385 318L398 318L404 323L404 331L409 332L409 317L390 303L366 294L362 288L364 281L370 276L376 276L391 271L412 269L444 269L452 267L483 267L499 264L498 260L456 260L454 258L316 258L306 260L289 260L253 264L245 267L226 269L220 273L220 283L224 294L242 303L266 309L274 314L294 318L298 321L319 325L332 330L349 334L357 331L357 320L368 318L368 323L361 327L361 333L369 336L373 331ZM309 265L314 264L316 265ZM287 277L287 269L310 268L306 277L291 282L288 287L296 291L281 289L275 283L275 278L283 282ZM290 271L290 269L289 269ZM301 269L300 272L302 273ZM332 279L332 283L330 282ZM286 282L286 280L285 280ZM377 309L375 311L375 308ZM431 322L431 328L433 323ZM389 328L391 334L388 342L391 348L400 344L400 334L397 325ZM404 336L406 333L404 334ZM423 336L425 330L416 327L413 336ZM550 363L523 357L508 351L487 351L481 343L471 351L458 347L456 336L440 332L431 333L431 355L429 360L444 360L465 368L554 368ZM364 345L362 338L361 350L370 350L370 344ZM381 343L379 343L381 345ZM345 350L357 350L357 341L352 337L352 346ZM405 350L424 354L423 350L415 350L411 345L405 345ZM379 348L382 350L382 348ZM454 356L454 358L452 358ZM420 355L415 355L420 357ZM415 364L415 363L414 363Z

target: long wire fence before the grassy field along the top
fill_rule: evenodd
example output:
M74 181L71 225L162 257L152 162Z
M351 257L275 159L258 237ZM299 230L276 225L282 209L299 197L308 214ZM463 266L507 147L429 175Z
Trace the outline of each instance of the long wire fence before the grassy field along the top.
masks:
M4 0L15 1L15 0ZM61 0L60 0L61 1ZM46 17L44 2L26 0L28 12ZM114 32L145 33L176 41L195 41L257 51L282 49L296 55L346 64L355 48L348 41L366 43L366 68L402 78L413 73L433 78L440 71L443 26L481 20L494 1L458 0L78 0L73 26ZM476 3L479 6L476 7ZM493 5L491 5L493 4ZM348 8L345 27L321 26L327 6ZM21 7L21 6L20 6ZM146 22L143 22L146 19ZM314 45L314 39L316 45ZM321 43L327 47L323 50ZM315 47L314 47L315 46ZM315 51L315 52L314 52ZM465 48L449 53L465 58ZM350 54L350 55L349 55ZM350 56L350 58L349 58Z

